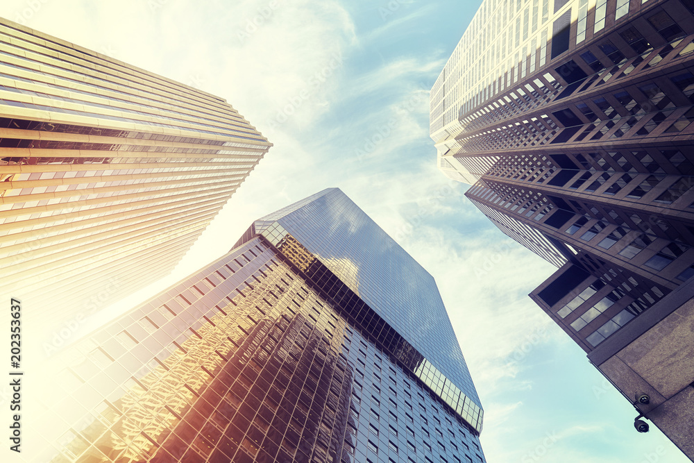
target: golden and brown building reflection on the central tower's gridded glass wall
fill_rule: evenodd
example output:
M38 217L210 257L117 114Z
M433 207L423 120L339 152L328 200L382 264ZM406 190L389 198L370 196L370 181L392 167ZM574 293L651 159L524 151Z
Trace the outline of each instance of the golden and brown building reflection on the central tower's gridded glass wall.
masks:
M296 242L291 239L287 242L287 249L291 250L289 255L298 255L296 251L300 248ZM90 452L94 454L96 448L108 461L139 462L158 455L158 451L167 455L180 453L180 457L184 452L188 455L190 448L194 448L196 455L207 457L223 435L234 448L239 446L255 457L262 448L264 434L258 435L255 440L248 435L243 437L248 428L248 419L244 414L237 414L237 419L230 420L229 406L242 410L242 406L249 401L259 401L260 398L255 397L263 396L271 387L286 393L289 389L283 382L297 374L307 378L304 386L307 390L316 391L318 385L326 381L325 389L350 389L348 367L339 360L342 352L341 332L346 323L335 317L326 323L324 319L327 314L320 317L322 321L318 323L313 307L319 306L319 299L302 289L302 280L296 278L288 282L287 270L284 265L263 267L264 276L260 283L256 282L252 289L246 287L242 292L234 291L230 296L225 296L223 301L226 305L218 304L216 314L206 318L201 326L185 330L178 337L185 336L183 342L171 342L171 349L156 355L146 365L142 376L124 384L126 389L121 389L121 396L117 400L106 402L108 405L101 411L104 419L94 420L80 434L71 434L71 439L66 437L68 442L63 454L71 458L84 457ZM209 279L207 281L209 287L214 287ZM196 285L194 289L199 287ZM272 305L269 305L269 300L273 301ZM167 318L170 320L175 319L171 317L174 312L165 304L158 312L169 314ZM317 329L319 324L325 329ZM149 335L146 339L150 340L162 328L150 317L140 319L137 326L143 328ZM125 341L128 348L144 344L143 340L135 344L128 330L120 332L117 339ZM316 356L305 355L307 349L315 351ZM90 358L100 357L102 352L101 348L97 348L90 353ZM319 358L325 362L326 367L322 370ZM264 376L264 367L271 360L282 364L280 372L285 372L287 376L269 382L256 379ZM342 364L342 371L346 371L344 379L342 376L333 379L333 369L338 363ZM327 369L328 364L333 367ZM319 367L316 368L316 365ZM235 371L235 378L231 376L232 371ZM261 383L264 387L259 391ZM253 399L246 396L248 391L253 394ZM340 395L349 396L348 392ZM222 405L215 404L215 408L212 404L215 400L219 402L221 397L224 398ZM312 410L323 410L328 403L328 394L320 400L323 401L322 405L316 395ZM267 401L269 409L277 412L278 404L273 403L271 398ZM335 403L332 410L341 416L339 421L346 423L348 404L344 400L342 402L344 410L337 410ZM303 415L311 413L301 402L296 406ZM208 416L216 424L205 427L205 435L196 435ZM291 416L298 422L296 413ZM306 416L303 416L302 420L305 419ZM265 418L258 415L251 428L266 433L270 421L271 415ZM304 430L303 425L295 427L300 432ZM318 439L318 429L314 438ZM185 442L191 443L192 447L183 445ZM285 451L296 451L301 445L286 445ZM323 446L325 452L328 447L329 443ZM62 461L61 458L56 457L54 461Z

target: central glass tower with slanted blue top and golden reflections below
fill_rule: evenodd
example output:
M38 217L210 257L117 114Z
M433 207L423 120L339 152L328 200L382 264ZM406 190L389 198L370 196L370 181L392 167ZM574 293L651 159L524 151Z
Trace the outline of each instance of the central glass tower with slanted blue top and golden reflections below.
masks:
M60 355L39 461L484 462L434 278L337 189Z

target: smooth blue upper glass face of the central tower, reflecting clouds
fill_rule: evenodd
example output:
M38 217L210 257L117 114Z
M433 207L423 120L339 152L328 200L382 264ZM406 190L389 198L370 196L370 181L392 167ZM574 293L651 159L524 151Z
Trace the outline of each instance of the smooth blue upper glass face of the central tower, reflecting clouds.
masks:
M262 217L246 236L253 232L273 244L287 233L296 238L480 406L434 278L344 193L319 192Z

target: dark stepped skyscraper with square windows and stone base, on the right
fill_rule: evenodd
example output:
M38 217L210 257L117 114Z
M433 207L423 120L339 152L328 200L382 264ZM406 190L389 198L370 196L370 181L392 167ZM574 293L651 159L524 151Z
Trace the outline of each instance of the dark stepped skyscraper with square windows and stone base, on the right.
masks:
M691 0L485 0L431 92L440 169L559 267L534 301L689 457L693 33Z

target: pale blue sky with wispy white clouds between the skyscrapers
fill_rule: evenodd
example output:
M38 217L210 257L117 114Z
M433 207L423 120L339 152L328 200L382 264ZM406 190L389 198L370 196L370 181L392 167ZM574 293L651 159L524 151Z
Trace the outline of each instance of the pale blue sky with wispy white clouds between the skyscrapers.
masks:
M688 462L657 430L634 430L627 401L527 297L554 268L436 168L428 90L479 2L231 3L0 6L3 17L222 96L273 142L149 294L226 253L253 219L340 187L436 278L485 409L489 462Z

